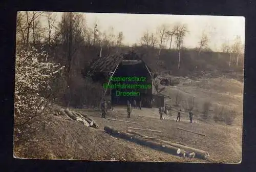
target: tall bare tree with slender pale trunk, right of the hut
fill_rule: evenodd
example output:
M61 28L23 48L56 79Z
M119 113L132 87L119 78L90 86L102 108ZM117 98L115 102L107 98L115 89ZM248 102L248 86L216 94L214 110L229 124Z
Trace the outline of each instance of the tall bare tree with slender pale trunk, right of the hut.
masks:
M180 25L180 24L176 25L175 29L176 29L175 36L176 36L176 45L177 45L176 50L178 52L178 69L180 69L180 50L182 48L184 37L186 33L188 33L188 30L186 25Z

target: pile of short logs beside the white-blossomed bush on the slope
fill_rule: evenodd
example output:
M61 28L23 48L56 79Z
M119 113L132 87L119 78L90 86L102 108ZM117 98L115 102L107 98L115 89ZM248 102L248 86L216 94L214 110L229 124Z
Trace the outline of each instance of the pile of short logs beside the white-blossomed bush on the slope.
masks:
M91 126L94 128L99 127L93 119L83 112L72 112L69 109L59 109L59 114L65 117L65 119L80 121L85 126Z

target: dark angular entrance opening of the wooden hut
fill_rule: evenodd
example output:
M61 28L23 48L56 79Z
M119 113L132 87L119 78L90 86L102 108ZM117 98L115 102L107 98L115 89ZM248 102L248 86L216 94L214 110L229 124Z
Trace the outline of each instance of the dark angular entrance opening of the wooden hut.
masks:
M152 77L143 61L123 60L121 63L119 63L113 77L130 77L136 80L129 81L129 79L127 79L126 81L119 82L120 84L134 85L134 88L111 89L113 104L127 104L127 100L129 100L131 103L136 100L138 104L139 100L141 100L142 106L150 105L149 103L152 99ZM111 84L113 84L113 82ZM144 89L141 87L144 87ZM120 92L134 92L134 95L120 96Z

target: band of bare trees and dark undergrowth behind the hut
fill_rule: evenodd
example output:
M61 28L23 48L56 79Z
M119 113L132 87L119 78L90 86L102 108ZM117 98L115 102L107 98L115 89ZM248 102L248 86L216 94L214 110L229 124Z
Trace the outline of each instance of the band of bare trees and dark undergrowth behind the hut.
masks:
M42 19L46 21L44 25ZM88 27L86 15L82 13L65 12L57 21L53 12L18 12L16 44L20 48L17 51L33 46L48 54L39 59L42 62L65 66L65 72L52 81L52 89L44 92L44 96L54 90L52 100L58 100L61 105L98 105L102 87L96 83L92 85L90 78L82 75L83 71L95 58L130 49L123 45L121 31L115 32L112 27L106 31L99 28L96 23L93 28ZM144 60L158 73L189 76L216 69L238 71L243 68L243 46L239 37L233 45L223 44L223 52L218 53L208 48L210 40L205 32L195 49L186 49L184 37L188 33L189 28L184 24L173 27L164 24L157 27L156 32L145 31L140 44L133 49L143 54Z

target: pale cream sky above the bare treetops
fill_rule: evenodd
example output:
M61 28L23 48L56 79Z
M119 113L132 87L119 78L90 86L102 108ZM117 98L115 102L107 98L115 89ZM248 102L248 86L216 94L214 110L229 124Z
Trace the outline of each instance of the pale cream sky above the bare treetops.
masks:
M62 12L56 12L60 21ZM94 28L95 22L98 29L108 31L114 28L114 33L123 32L123 44L139 44L143 33L148 30L156 33L157 27L166 24L172 28L176 24L185 24L189 33L184 38L184 47L198 47L202 33L209 37L208 47L220 51L225 41L232 44L234 38L241 36L242 43L245 39L245 17L242 16L206 16L206 15L162 15L162 14L116 14L116 13L84 13L87 26ZM45 20L42 19L42 24ZM173 46L174 42L173 42ZM172 46L172 47L173 47ZM167 46L169 47L169 46Z

